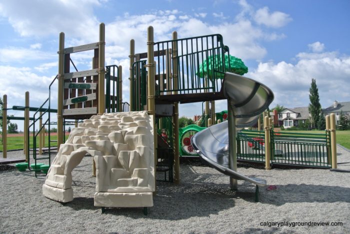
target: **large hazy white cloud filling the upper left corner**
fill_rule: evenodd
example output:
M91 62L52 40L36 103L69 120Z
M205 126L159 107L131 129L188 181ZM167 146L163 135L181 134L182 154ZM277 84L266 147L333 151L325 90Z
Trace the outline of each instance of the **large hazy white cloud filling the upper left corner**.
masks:
M11 0L0 3L0 15L7 17L21 36L45 36L60 31L85 35L98 25L93 14L93 7L98 5L99 0Z

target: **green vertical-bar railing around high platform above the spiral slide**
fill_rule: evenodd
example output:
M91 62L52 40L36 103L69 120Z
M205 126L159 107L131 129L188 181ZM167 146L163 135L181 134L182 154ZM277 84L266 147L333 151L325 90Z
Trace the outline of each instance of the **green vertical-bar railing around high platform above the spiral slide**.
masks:
M154 50L171 51L172 44L177 45L178 78L177 87L171 78L173 70L172 59L167 59L166 53L158 53L156 61L155 76L156 95L170 94L172 91L184 93L216 92L220 90L222 72L225 71L224 54L228 53L228 47L223 45L220 34L196 36L176 40L167 40L154 43ZM215 59L210 59L215 58ZM208 63L206 66L201 64ZM162 78L160 78L162 77ZM204 79L208 78L205 85ZM166 85L170 82L171 85Z

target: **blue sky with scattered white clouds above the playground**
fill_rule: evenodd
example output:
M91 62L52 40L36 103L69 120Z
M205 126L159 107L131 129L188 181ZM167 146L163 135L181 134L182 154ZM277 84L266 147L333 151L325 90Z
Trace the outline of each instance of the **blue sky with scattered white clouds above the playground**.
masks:
M327 107L350 101L349 9L349 0L0 0L0 95L7 94L9 106L23 105L28 90L30 106L39 106L57 73L59 32L65 47L91 43L104 22L106 65L121 64L124 80L129 40L135 39L136 53L145 52L148 25L155 41L170 39L174 30L179 38L220 33L248 66L246 76L272 89L270 107L307 106L311 78ZM73 60L85 70L91 57L74 54ZM128 85L123 82L124 101ZM225 101L217 101L222 109ZM180 105L180 115L200 112L198 103Z

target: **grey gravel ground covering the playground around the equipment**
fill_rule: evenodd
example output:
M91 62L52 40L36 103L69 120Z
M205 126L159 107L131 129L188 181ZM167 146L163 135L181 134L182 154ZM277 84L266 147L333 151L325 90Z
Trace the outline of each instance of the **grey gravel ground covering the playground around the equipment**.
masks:
M337 154L338 168L350 171L350 152L338 147ZM22 151L8 152L8 157L18 156L24 157ZM231 191L227 176L186 160L180 165L179 185L157 181L154 206L148 208L147 216L142 208L108 208L101 214L93 206L91 160L85 156L73 170L74 200L65 204L45 198L41 191L44 179L35 178L33 172L1 170L0 232L350 233L350 173L238 167L244 175L276 185L275 190L260 187L260 202L256 203L254 185L239 181L238 191ZM309 226L310 221L342 225Z

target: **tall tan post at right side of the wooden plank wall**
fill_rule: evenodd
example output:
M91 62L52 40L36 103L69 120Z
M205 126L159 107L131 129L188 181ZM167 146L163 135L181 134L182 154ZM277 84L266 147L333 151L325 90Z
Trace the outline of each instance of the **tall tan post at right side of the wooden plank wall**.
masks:
M105 94L104 94L104 46L105 46L105 26L99 24L99 42L98 42L98 114L105 112Z

